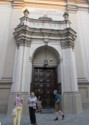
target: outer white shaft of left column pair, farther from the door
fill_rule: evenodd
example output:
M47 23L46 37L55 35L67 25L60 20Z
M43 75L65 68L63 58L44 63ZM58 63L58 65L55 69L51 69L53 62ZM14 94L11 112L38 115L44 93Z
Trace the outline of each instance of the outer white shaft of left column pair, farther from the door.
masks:
M25 46L19 46L16 51L15 67L14 67L14 80L12 84L11 92L21 91L22 76L23 76L23 63L24 63L24 49Z

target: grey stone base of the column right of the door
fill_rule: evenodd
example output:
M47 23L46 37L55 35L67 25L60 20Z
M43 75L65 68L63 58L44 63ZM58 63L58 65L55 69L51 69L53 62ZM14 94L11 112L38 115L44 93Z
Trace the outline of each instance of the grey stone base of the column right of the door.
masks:
M65 92L62 98L64 113L78 114L82 112L81 95L77 92Z

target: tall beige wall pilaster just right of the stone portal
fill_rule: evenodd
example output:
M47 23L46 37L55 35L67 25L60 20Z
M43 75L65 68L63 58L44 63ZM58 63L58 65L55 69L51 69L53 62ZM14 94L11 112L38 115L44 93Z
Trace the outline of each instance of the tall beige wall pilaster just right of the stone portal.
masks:
M79 31L78 31L78 20L77 20L77 12L69 12L69 20L71 22L71 27L73 30L77 32L77 38L75 40L75 47L74 47L74 53L75 53L75 61L76 61L76 71L77 71L77 78L81 79L84 78L84 65L83 65L83 59L82 59L82 53L81 53L81 40L79 37Z

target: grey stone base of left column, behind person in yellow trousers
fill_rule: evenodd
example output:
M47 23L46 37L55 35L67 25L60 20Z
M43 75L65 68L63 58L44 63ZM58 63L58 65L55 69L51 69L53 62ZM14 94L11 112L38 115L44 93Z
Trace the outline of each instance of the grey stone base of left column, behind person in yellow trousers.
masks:
M16 93L13 93L9 96L9 101L8 101L8 110L7 110L7 115L11 116L12 113L12 109L15 107L14 106L14 102L15 102L15 97L16 97ZM22 114L23 115L28 115L29 111L28 111L28 94L22 94L22 97L24 99L23 101L23 110L22 110Z

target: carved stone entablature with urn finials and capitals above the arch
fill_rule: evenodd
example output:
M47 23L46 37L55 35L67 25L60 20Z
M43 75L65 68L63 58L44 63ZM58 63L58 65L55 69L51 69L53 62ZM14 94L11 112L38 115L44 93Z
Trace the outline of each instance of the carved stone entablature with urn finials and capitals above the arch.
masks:
M47 16L39 19L28 17L29 11L24 11L24 17L20 19L20 24L14 32L17 46L30 46L32 39L41 39L45 45L49 40L61 41L62 48L74 48L76 32L70 28L69 20L54 21ZM65 19L68 13L64 13Z

